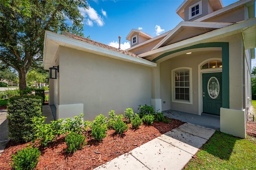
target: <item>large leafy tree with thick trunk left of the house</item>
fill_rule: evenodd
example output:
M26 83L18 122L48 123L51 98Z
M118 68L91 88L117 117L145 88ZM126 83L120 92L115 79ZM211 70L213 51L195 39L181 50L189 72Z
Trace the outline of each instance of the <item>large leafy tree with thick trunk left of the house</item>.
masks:
M86 0L30 0L29 17L13 10L13 1L10 6L4 1L0 1L0 60L18 71L20 90L25 90L28 70L43 59L45 31L83 36L79 9L88 4Z

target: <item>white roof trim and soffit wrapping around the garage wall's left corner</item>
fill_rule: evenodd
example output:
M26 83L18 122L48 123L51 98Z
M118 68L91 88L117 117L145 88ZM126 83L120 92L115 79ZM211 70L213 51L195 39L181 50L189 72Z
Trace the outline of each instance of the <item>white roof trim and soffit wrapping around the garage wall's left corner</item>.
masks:
M93 45L91 43L86 43L86 42L76 40L74 38L70 38L70 37L67 37L64 35L46 31L45 38L44 38L44 69L49 68L47 63L45 63L45 59L46 59L46 57L48 57L47 56L48 55L47 52L49 50L48 48L50 48L49 46L47 46L48 40L54 41L54 42L58 43L58 45L60 45L62 43L62 44L64 44L62 46L66 46L66 47L72 46L72 47L76 47L76 49L82 48L82 49L85 49L85 51L87 51L89 53L96 53L96 54L103 55L106 57L111 57L111 58L128 61L128 62L132 62L132 63L137 63L137 64L141 64L141 65L146 65L148 67L156 67L156 63L154 63L152 61L148 61L146 59L132 57L130 55L126 55L126 54L120 53L118 51L113 51L111 49L106 49L106 48L100 47L98 45ZM54 58L54 56L51 56L51 57L52 57L52 59ZM48 63L48 64L51 64L51 63Z

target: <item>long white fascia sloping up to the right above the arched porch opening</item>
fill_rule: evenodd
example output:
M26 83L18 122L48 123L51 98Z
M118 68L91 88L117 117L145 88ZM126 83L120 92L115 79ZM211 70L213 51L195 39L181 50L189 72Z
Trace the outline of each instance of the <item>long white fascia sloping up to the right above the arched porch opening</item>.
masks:
M180 41L177 43L166 45L166 46L158 48L158 49L154 49L152 51L148 51L146 53L142 53L139 56L147 57L149 55L154 55L157 53L164 53L164 52L170 51L170 49L175 50L175 49L180 49L182 47L196 45L198 43L204 43L204 42L206 42L206 40L211 41L211 40L215 40L216 38L220 38L220 37L224 38L226 36L238 34L238 33L242 32L243 30L247 29L248 27L253 26L255 24L256 24L256 18L252 18L252 19L249 19L249 20L246 20L243 22L239 22L237 24L233 24L231 26L220 28L218 30L213 30L211 32L207 32L205 34L201 34L199 36L192 37L187 40L183 40L183 41Z

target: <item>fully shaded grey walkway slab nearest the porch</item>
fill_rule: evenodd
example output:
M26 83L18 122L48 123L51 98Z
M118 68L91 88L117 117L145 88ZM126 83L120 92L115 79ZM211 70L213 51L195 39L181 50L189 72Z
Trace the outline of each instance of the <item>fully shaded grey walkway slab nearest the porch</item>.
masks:
M180 127L176 128L177 130L182 130L184 132L193 134L200 138L209 139L215 132L215 130L211 128L201 127L198 125L194 125L191 123L184 123Z

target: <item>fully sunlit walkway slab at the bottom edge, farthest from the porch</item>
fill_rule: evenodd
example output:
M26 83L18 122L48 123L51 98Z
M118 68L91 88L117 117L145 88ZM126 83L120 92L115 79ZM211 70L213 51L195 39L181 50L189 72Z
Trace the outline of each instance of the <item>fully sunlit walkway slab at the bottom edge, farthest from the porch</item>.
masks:
M117 158L114 158L107 162L106 164L102 164L98 166L94 170L149 170L144 164L138 161L130 154L122 154Z

